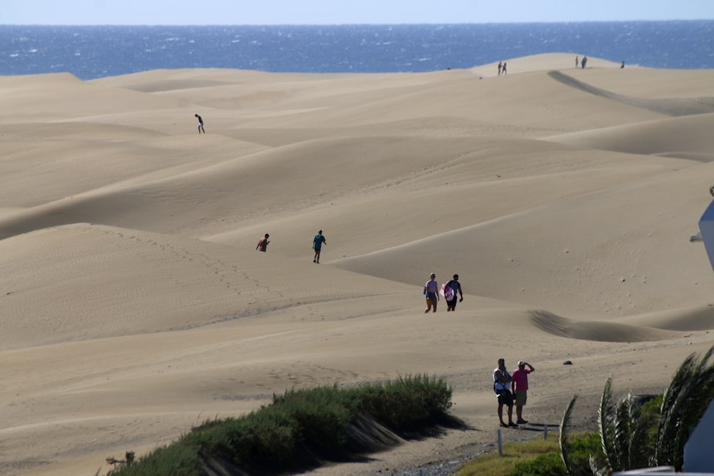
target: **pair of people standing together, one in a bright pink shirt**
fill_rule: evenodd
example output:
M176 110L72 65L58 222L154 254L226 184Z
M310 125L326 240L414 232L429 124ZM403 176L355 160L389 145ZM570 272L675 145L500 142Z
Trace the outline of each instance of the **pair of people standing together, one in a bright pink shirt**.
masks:
M511 375L506 370L506 360L498 359L498 367L493 369L493 391L496 392L498 398L498 420L502 427L517 427L528 423L523 420L523 406L528 400L528 374L534 370L533 365L519 360L518 369L514 370ZM514 400L517 419L515 423L513 422ZM503 405L508 407L508 423L503 421Z

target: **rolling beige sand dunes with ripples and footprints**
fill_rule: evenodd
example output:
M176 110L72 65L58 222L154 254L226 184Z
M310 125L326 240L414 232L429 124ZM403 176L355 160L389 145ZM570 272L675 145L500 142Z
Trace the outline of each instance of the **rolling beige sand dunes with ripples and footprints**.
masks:
M492 450L500 357L535 366L539 425L574 393L590 425L609 375L663 390L714 343L688 240L714 71L588 66L0 78L0 473L104 473L273 393L414 373L473 429L314 474ZM431 271L456 313L423 313Z

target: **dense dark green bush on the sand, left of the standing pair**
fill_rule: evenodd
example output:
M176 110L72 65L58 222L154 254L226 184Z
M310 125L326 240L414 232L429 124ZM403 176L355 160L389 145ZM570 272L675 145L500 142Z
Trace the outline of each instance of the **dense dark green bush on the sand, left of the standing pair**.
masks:
M382 450L396 442L394 435L423 435L436 425L461 426L448 414L451 394L445 380L426 375L348 389L333 385L288 390L243 417L203 422L174 444L109 475L272 475L309 470L324 460Z

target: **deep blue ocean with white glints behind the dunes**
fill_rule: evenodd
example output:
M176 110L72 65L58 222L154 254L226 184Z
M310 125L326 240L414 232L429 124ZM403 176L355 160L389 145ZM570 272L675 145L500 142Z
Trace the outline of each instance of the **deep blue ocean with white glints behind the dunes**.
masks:
M0 75L79 79L151 69L390 73L573 53L714 68L714 20L336 26L0 26Z

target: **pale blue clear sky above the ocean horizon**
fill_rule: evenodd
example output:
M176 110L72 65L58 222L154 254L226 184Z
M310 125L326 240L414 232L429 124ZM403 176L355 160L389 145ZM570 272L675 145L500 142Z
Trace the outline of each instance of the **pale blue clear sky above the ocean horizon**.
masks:
M3 0L0 25L329 25L714 19L714 0Z

